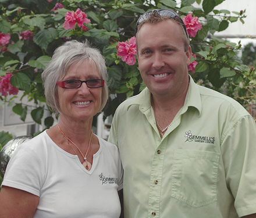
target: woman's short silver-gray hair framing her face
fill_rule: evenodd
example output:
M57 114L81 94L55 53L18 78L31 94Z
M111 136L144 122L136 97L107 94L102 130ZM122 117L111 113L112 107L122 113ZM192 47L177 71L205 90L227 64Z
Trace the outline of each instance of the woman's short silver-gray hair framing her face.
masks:
M69 67L76 63L79 64L86 59L94 63L101 78L105 80L105 85L102 87L101 92L101 107L98 112L101 112L106 105L108 101L108 85L106 83L108 74L104 56L101 55L101 52L99 52L97 48L92 48L87 40L83 42L72 40L56 48L52 60L47 65L44 72L42 72L46 102L56 115L60 113L56 82L65 77Z

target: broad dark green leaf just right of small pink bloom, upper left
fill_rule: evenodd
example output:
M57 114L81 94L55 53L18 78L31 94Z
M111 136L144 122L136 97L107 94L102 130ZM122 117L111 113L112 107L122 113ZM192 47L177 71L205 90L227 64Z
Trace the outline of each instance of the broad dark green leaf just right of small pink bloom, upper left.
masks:
M34 42L47 50L48 44L58 37L58 31L55 28L39 31L34 35Z

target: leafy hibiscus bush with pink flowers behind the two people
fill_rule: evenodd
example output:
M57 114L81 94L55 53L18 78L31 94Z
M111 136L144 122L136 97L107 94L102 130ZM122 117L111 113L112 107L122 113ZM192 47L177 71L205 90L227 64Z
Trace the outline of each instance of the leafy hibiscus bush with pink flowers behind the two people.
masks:
M216 10L223 1L0 0L0 99L24 121L27 105L13 99L23 91L22 98L36 105L32 118L42 124L49 108L41 73L56 47L87 38L105 56L111 95L104 113L113 115L120 102L145 88L134 38L138 17L147 10L167 8L179 13L186 24L193 51L189 72L194 80L247 106L255 101L255 69L238 58L241 44L214 35L233 22L244 23L246 10ZM53 121L49 114L43 123L49 128Z

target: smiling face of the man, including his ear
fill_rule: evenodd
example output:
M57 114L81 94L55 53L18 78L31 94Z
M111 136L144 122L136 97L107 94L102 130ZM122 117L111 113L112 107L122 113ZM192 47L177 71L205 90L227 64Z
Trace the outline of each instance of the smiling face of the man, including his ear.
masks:
M187 92L191 47L184 49L182 30L173 20L144 24L137 33L138 67L154 96L178 97Z

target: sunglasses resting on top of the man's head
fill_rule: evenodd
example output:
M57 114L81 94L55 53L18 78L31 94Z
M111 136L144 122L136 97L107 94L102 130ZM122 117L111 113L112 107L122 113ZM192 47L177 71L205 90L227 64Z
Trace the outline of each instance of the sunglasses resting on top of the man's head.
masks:
M186 25L184 24L182 18L176 13L174 12L173 10L168 10L168 9L154 9L154 10L151 10L150 12L146 12L144 13L143 15L141 15L138 20L137 20L137 23L136 23L136 28L135 28L135 32L134 32L134 35L136 36L136 33L137 33L137 30L138 30L138 25L143 22L143 20L147 20L148 17L150 17L151 13L153 12L157 12L158 15L160 15L161 17L171 17L171 18L174 18L174 17L178 17L180 22L182 23L182 26L184 28L184 31L187 35L187 29L186 29ZM189 36L187 35L187 37L189 38Z

